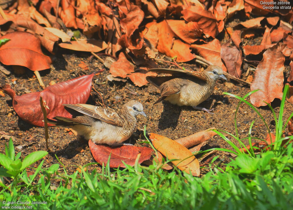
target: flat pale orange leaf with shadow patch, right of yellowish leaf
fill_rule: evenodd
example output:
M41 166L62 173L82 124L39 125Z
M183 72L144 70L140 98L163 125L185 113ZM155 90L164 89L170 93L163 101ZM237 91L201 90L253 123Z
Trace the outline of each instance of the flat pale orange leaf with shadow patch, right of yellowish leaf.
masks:
M59 43L59 46L65 49L85 51L85 52L99 52L108 47L108 44L96 39L80 39L71 42Z

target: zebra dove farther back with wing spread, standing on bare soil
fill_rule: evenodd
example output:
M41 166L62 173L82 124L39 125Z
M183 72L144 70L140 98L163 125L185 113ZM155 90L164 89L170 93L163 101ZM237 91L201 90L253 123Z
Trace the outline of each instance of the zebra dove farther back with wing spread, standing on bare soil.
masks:
M223 75L222 68L214 65L209 66L203 72L168 68L152 68L149 71L172 74L172 76L148 76L146 78L161 92L161 97L154 104L162 100L168 100L171 104L192 106L194 109L207 111L208 113L213 109L209 110L197 105L213 93L215 83L219 78L227 80Z

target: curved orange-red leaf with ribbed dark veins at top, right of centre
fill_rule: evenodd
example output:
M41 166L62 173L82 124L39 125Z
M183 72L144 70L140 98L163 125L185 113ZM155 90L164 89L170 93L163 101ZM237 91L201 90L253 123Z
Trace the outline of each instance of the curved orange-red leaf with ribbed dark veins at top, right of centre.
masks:
M207 10L197 6L189 6L182 10L184 20L197 22L198 27L207 37L215 38L219 33L216 17Z

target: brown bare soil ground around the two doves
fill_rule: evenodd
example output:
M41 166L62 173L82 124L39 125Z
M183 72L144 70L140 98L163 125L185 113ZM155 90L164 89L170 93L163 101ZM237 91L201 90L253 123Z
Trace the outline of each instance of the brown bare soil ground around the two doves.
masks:
M81 61L88 65L88 70L84 70L78 66ZM168 67L164 65L165 63L163 63L161 67ZM185 66L185 68L191 67L192 66L188 66L187 64ZM34 77L33 71L27 69L24 74L17 75L13 73L10 66L5 66L5 68L11 70L12 73L10 75L5 75L0 72L1 86L5 83L9 83L19 95L42 90ZM91 74L102 68L105 68L103 64L96 58L90 56L90 54L67 51L55 55L51 69L41 71L40 74L43 82L48 86L51 81L66 81L80 75ZM286 68L286 70L287 69L288 68ZM253 73L254 71L250 71L249 75L253 75ZM229 82L219 80L214 89L214 94L200 105L207 109L214 108L214 114L209 114L194 110L192 107L188 106L178 107L170 104L168 101L163 101L163 103L153 106L153 103L159 97L158 89L149 84L139 88L134 86L130 80L127 80L127 82L110 82L106 78L108 74L108 70L105 70L100 75L93 78L94 87L103 97L104 104L110 108L118 109L126 101L135 99L143 104L144 111L149 117L148 119L142 116L138 117L138 130L134 132L131 139L128 140L129 143L135 145L142 145L139 144L139 142L145 141L143 132L141 131L144 125L147 125L148 132L164 135L171 139L184 137L211 127L216 127L217 129L235 134L234 113L239 101L233 97L224 95L223 92L243 96L250 91L249 85L239 84L232 80L229 80ZM243 72L243 75L244 74L245 72ZM245 76L243 77L244 80L246 78ZM17 80L12 82L14 79ZM102 103L101 98L95 90L92 89L91 95L92 97L88 99L88 104L99 105L99 102ZM280 100L275 100L272 103L277 113L279 104ZM271 111L267 107L258 110L264 116L272 132L274 132L275 123ZM286 102L284 117L287 118L291 111L292 105ZM248 129L253 120L255 120L255 124L252 135L265 138L267 131L264 123L251 108L243 104L239 109L237 118L240 137L243 138L248 135ZM8 95L4 97L0 96L0 131L4 131L14 137L13 143L16 147L16 152L21 152L22 156L26 156L33 151L46 150L44 128L30 125L21 120L13 110L12 100ZM49 127L49 137L51 152L45 159L45 166L49 167L53 163L58 163L55 154L66 166L67 173L73 173L77 166L95 162L88 144L79 142L71 132L62 128ZM231 139L231 141L239 146L238 142L234 139ZM8 140L1 138L1 153L5 152L5 143L8 144ZM81 152L80 147L83 149ZM224 140L219 136L215 136L208 140L208 143L202 147L202 149L205 150L214 147L230 148ZM227 162L229 158L231 158L231 156L224 154L224 152L217 152L205 159L205 161L203 161L203 166L208 166L210 158L214 156L219 156L218 162ZM37 164L34 166L37 166ZM91 171L94 168L97 168L98 171L100 170L100 166L98 165L89 166L88 170ZM207 169L201 169L201 173L206 170Z

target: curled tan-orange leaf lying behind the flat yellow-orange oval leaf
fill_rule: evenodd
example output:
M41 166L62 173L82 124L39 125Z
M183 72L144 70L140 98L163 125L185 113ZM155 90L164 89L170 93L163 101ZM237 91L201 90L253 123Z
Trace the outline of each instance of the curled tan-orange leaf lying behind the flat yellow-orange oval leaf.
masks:
M201 144L202 142L205 142L209 138L217 135L217 133L214 132L213 129L216 129L216 128L212 127L207 130L196 132L192 135L189 135L180 139L176 139L175 141L181 144L183 147L189 148L194 145Z

